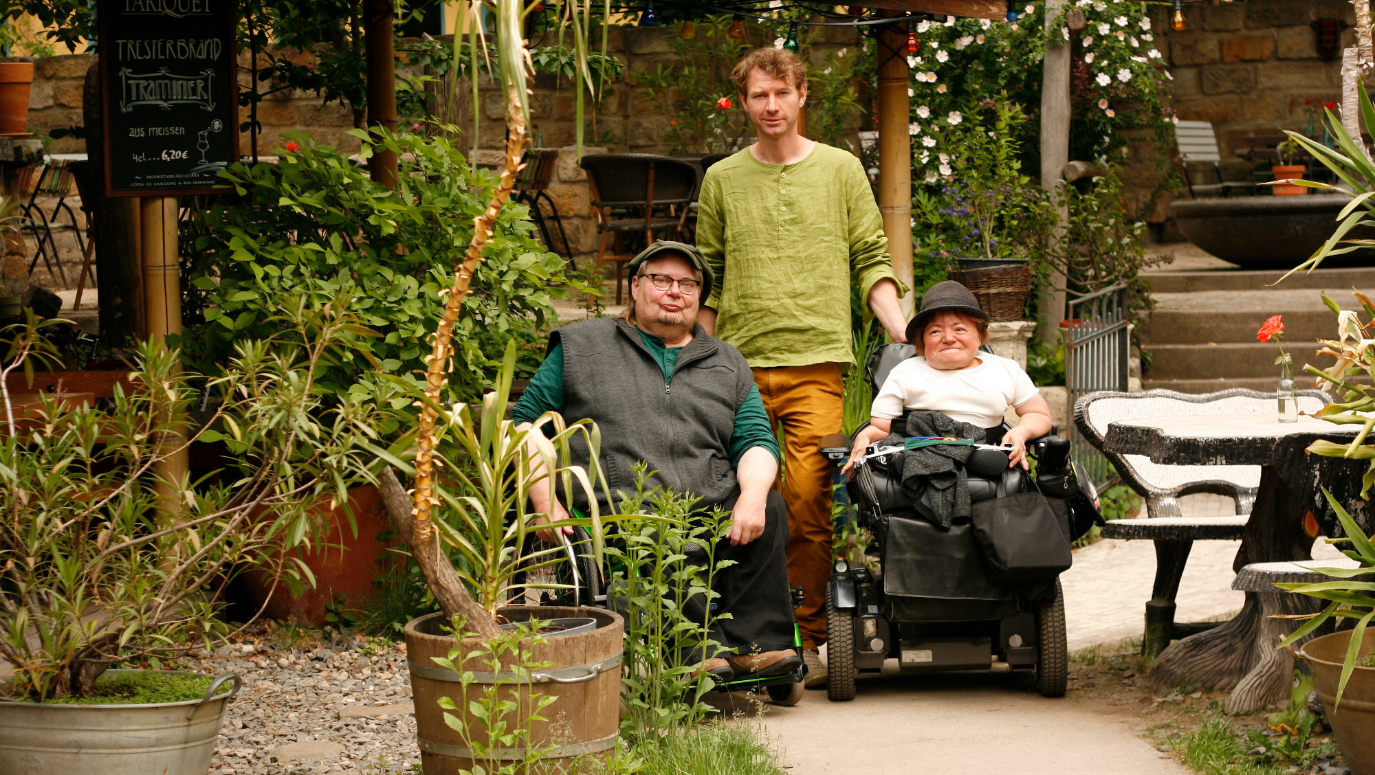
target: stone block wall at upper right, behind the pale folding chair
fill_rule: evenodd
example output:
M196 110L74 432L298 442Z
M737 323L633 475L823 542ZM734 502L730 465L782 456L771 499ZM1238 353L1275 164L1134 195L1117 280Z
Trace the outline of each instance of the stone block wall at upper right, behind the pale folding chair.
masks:
M1354 23L1350 3L1187 3L1184 16L1184 30L1165 29L1160 38L1174 76L1174 110L1182 120L1213 122L1226 177L1250 180L1250 162L1233 155L1248 147L1248 135L1305 131L1306 110L1341 100L1341 52L1323 59L1312 23L1323 16ZM1353 37L1346 29L1342 47Z

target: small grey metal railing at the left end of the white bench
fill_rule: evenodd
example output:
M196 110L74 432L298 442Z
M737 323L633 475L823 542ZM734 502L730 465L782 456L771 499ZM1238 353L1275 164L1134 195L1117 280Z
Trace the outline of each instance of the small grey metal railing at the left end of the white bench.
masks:
M1074 404L1096 390L1128 389L1130 356L1130 322L1126 315L1126 284L1116 284L1090 294L1070 297L1068 331L1064 338L1064 385L1068 389L1071 419L1066 438L1072 444L1074 459L1084 466L1094 485L1107 482L1111 467L1074 425Z

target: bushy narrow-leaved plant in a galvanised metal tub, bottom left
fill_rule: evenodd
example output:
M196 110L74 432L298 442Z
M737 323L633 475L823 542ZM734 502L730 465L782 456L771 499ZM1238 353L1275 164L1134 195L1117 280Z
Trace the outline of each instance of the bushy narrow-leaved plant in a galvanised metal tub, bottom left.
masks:
M311 503L371 477L360 442L382 409L322 409L314 381L360 327L346 300L292 300L280 334L241 344L213 379L144 344L110 407L52 400L16 418L7 378L51 363L55 323L29 312L0 341L0 658L14 665L0 772L204 775L239 679L160 668L231 633L221 594L235 568L307 543ZM217 409L191 426L205 393ZM214 438L230 469L191 481L165 464ZM275 517L254 521L264 507Z

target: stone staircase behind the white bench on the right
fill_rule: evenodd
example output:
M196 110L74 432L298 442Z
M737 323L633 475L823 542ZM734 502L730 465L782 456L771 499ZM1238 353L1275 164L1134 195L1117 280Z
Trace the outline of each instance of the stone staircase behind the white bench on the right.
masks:
M1185 269L1180 264L1143 275L1156 302L1141 328L1148 359L1141 386L1147 390L1275 390L1279 350L1273 341L1255 339L1272 315L1284 316L1284 352L1294 359L1294 382L1310 388L1313 378L1302 374L1304 364L1327 368L1332 363L1314 355L1316 339L1336 337L1336 316L1319 294L1327 291L1342 308L1357 311L1353 287L1375 297L1375 268L1314 269L1269 287L1283 272L1242 271L1216 258L1185 261Z

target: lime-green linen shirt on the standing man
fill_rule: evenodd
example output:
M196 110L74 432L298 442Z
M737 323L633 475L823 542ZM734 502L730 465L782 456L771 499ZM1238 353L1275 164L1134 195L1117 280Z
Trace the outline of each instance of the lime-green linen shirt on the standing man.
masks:
M754 367L854 366L851 284L868 301L898 282L859 159L817 143L798 164L764 164L744 148L707 170L697 207L716 335Z

